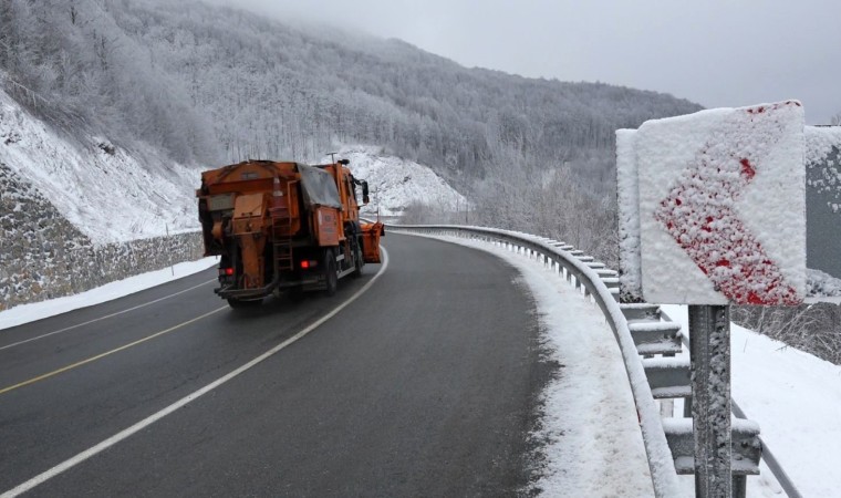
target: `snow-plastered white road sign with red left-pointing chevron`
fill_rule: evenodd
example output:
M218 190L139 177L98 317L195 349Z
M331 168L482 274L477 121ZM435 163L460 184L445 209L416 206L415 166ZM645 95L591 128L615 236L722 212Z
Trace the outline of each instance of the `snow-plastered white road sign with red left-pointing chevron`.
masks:
M802 302L799 102L650 121L616 142L624 300Z

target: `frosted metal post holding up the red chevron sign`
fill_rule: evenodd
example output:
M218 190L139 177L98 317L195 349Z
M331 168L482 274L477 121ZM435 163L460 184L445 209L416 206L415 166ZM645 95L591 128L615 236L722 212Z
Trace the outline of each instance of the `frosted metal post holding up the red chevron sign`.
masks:
M730 313L689 305L695 496L731 498Z

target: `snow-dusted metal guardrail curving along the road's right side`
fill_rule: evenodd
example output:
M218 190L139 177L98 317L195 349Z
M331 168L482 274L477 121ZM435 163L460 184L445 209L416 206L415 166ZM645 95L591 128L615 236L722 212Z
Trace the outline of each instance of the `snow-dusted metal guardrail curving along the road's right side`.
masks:
M575 250L574 247L562 241L509 230L465 226L387 225L387 228L396 232L479 239L497 242L511 249L528 251L529 255L541 257L546 264L551 264L552 268L556 268L577 289L582 289L584 295L590 297L602 310L602 313L604 313L604 318L610 324L613 336L616 339L616 343L622 352L625 372L631 384L636 412L640 416L640 427L647 454L654 494L657 497L683 495L683 489L678 484L675 460L673 459L672 449L669 449L669 443L666 439L660 407L652 394L648 377L641 360L641 354L669 355L679 351L681 347L679 331L674 329L673 325L654 324L646 326L644 324L646 322L645 319L651 318L654 312L656 312L657 321L651 321L651 323L663 323L660 322L657 307L651 304L620 307L617 302L619 279L616 278L616 272L606 269L603 263L594 261L592 257L585 256L582 251ZM629 326L629 319L625 313L629 317L634 317L635 333L632 333L632 328ZM675 342L677 343L676 346ZM665 370L667 371L667 369ZM675 393L685 394L679 388ZM683 427L678 427L677 429L677 434L685 433ZM673 445L678 443L681 443L682 447L686 446L683 439L673 440Z

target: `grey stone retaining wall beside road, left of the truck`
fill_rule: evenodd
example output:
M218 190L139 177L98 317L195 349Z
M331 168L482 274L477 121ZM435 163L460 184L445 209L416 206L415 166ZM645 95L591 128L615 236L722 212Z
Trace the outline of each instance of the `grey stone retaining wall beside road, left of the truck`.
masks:
M0 310L201 257L198 234L94 245L0 163Z

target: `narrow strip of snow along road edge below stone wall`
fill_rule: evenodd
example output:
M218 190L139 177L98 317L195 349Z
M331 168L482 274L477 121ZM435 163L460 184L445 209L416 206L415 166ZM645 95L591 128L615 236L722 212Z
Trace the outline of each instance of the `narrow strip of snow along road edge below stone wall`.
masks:
M50 299L48 301L20 304L11 310L0 311L0 331L22 323L54 317L68 311L112 301L124 295L133 294L162 283L177 280L215 266L218 260L215 257L204 258L198 261L189 261L175 264L172 268L150 271L125 280L106 283L96 289L91 289L79 294L64 298Z

